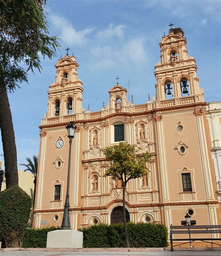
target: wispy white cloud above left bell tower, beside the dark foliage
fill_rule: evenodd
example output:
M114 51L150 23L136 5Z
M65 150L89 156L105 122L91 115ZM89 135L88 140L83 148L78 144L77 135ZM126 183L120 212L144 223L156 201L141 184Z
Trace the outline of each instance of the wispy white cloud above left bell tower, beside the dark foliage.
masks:
M95 28L85 28L76 31L71 22L64 17L50 15L50 21L55 29L58 31L58 37L66 42L68 45L82 45L86 42L86 35L90 34Z

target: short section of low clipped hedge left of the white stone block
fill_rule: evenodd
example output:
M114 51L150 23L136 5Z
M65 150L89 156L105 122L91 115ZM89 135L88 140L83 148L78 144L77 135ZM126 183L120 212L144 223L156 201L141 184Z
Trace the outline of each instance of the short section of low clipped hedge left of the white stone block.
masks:
M23 235L22 247L24 248L46 248L47 234L49 231L53 231L61 228L26 228Z

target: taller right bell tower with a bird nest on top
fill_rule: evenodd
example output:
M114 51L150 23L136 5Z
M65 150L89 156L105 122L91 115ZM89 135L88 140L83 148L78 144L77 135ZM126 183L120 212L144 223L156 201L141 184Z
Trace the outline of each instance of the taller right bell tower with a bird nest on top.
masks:
M164 35L160 46L160 61L155 66L156 101L196 96L195 102L203 102L203 90L199 87L197 66L187 54L186 38L181 28L171 28ZM178 100L175 101L176 104Z

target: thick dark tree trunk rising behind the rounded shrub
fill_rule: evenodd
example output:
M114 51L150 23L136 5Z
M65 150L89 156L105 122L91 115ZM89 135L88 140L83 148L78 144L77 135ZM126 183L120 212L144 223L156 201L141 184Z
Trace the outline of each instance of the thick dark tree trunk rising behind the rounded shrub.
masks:
M0 129L5 160L6 188L18 186L17 151L7 90L0 77Z

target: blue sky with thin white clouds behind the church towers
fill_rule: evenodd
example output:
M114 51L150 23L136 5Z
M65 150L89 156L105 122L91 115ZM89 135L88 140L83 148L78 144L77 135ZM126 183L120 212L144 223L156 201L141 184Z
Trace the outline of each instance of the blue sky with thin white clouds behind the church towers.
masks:
M85 110L90 104L91 111L99 111L103 101L108 103L117 76L127 89L130 79L134 103L143 104L148 93L151 98L155 94L159 42L172 22L184 30L205 100L221 100L220 0L48 0L47 12L50 35L61 39L60 51L52 61L42 60L41 74L29 73L29 84L22 83L9 95L18 164L38 154L38 125L47 110L48 86L67 46L80 65Z

